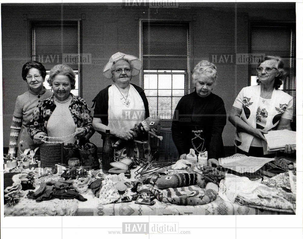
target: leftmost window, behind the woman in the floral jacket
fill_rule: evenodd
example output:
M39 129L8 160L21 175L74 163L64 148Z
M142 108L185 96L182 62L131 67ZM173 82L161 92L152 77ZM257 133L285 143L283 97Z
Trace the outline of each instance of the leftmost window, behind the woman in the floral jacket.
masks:
M75 89L71 93L79 95L79 65L65 59L68 55L79 56L78 22L31 22L32 60L41 62L46 69L47 80L49 71L57 64L67 64L76 74ZM67 55L68 54L68 55ZM47 81L43 83L46 89L51 89Z

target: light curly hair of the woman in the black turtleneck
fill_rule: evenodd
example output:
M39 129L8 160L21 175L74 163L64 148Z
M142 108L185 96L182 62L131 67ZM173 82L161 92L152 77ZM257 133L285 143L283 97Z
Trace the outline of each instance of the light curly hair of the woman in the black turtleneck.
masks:
M192 74L193 82L196 82L201 75L208 76L215 82L217 79L217 67L208 60L201 60L194 68L194 73Z

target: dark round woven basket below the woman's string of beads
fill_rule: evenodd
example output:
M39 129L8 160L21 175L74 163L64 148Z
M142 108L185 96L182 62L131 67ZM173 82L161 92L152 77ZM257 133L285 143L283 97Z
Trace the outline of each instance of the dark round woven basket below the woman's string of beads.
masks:
M43 143L40 146L41 167L52 167L56 163L62 163L63 144Z

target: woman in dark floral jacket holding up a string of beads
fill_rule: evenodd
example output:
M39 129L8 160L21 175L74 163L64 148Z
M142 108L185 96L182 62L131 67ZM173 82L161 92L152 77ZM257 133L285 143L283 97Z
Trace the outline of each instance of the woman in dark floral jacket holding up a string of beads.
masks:
M80 144L85 144L95 131L88 106L71 93L75 89L74 71L69 66L56 65L50 70L48 83L54 94L37 105L28 127L29 135L38 144L45 136L62 137L65 144L75 143L77 138Z

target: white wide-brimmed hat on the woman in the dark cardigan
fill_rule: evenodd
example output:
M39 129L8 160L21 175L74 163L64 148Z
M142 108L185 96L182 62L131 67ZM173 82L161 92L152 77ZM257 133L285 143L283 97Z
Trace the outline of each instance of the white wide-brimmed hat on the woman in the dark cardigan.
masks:
M112 68L112 65L114 63L116 63L118 60L127 60L128 61L128 63L132 67L132 76L136 76L140 73L140 70L142 68L142 63L137 57L134 57L132 55L126 55L121 52L117 52L111 56L111 58L109 59L109 62L105 65L105 67L103 69L103 75L106 78L108 78L108 79L112 78L112 69L111 68Z

